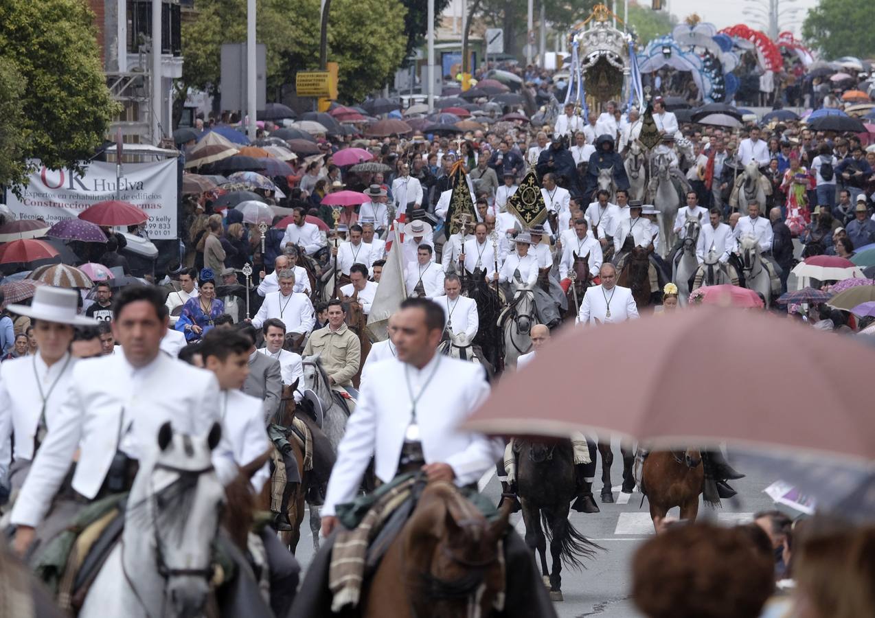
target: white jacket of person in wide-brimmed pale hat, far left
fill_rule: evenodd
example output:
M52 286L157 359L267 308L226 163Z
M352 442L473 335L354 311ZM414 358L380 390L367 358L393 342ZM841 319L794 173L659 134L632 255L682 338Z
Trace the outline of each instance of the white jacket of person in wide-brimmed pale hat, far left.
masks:
M52 367L42 355L19 356L0 364L0 482L12 460L32 460L45 397L45 426L52 427L73 376L77 359L69 353ZM42 392L42 396L40 396ZM11 436L15 434L15 448Z

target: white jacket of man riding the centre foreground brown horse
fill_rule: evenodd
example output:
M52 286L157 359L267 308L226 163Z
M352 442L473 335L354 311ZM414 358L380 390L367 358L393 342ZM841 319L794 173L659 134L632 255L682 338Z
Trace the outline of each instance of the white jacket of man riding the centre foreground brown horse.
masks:
M335 515L337 504L353 499L372 457L377 478L388 482L395 477L415 397L416 425L426 463L449 464L455 474L453 482L459 487L476 482L495 467L503 453L502 442L458 430L489 395L485 377L483 368L475 363L437 354L423 369L396 359L369 367L355 413L346 422L338 446L322 516Z

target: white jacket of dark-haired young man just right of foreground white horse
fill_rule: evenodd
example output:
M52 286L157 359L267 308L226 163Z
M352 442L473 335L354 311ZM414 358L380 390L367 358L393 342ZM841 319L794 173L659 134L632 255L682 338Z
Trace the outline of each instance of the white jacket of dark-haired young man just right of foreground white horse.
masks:
M219 405L223 433L228 434L237 466L246 466L261 457L270 447L268 432L264 427L262 400L242 390L222 390ZM265 461L249 479L256 494L261 492L269 478L270 468Z

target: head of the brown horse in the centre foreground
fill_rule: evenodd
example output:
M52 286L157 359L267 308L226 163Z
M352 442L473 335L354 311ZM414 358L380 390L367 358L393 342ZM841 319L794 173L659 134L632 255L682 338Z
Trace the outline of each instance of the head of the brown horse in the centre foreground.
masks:
M493 613L504 590L499 540L509 512L489 523L451 483L425 486L405 528L405 562L419 575L410 594L416 615Z

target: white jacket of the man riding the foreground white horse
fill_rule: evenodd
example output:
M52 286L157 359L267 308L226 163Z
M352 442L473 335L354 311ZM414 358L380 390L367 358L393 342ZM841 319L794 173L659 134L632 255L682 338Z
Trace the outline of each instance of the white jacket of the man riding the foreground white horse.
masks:
M36 527L42 521L77 449L73 489L90 500L101 488L117 449L138 460L151 457L165 422L176 432L209 432L214 422L221 423L219 393L211 372L160 353L141 368L131 366L123 354L77 362L11 522ZM237 466L224 433L213 450L213 463L220 480L228 483L235 479Z

